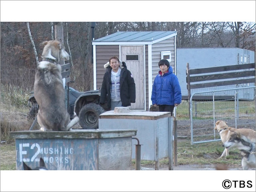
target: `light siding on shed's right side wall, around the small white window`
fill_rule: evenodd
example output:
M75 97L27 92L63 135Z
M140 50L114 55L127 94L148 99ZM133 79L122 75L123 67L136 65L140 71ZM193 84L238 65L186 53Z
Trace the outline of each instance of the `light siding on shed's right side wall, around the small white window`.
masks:
M161 60L161 51L171 51L172 60L170 66L172 66L172 69L174 71L174 49L174 37L160 41L156 44L152 44L152 82L154 82L154 79L159 71L158 62Z

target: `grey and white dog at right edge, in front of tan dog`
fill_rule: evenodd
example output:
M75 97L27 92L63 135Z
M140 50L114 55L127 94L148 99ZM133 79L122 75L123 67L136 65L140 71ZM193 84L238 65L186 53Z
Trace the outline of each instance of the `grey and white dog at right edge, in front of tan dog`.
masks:
M256 167L255 142L251 142L247 136L240 133L232 133L223 146L225 148L236 147L241 151L243 170Z

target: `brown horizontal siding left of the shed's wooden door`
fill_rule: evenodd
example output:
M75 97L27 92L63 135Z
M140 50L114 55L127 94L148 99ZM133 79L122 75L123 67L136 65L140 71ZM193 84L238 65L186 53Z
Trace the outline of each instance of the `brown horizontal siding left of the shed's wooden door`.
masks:
M119 58L119 45L96 45L96 88L102 86L106 64L111 56Z

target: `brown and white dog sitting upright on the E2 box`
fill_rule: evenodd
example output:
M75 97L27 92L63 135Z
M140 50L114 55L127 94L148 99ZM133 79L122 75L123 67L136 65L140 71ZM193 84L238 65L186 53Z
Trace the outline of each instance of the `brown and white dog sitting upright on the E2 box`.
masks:
M56 40L42 42L44 50L34 82L34 96L39 105L37 114L40 130L66 131L78 123L70 116L65 106L60 60L68 60L69 55L61 42Z

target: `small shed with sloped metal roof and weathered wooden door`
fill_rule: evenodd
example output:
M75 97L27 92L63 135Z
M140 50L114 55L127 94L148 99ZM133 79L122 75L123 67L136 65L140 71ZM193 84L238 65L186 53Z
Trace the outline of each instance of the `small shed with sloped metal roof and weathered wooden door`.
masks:
M131 110L148 111L158 62L169 60L176 74L176 35L176 31L116 32L93 40L94 90L102 86L104 64L111 56L118 56L126 62L136 84Z

